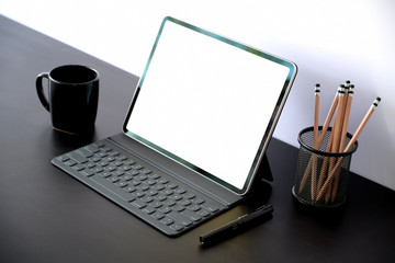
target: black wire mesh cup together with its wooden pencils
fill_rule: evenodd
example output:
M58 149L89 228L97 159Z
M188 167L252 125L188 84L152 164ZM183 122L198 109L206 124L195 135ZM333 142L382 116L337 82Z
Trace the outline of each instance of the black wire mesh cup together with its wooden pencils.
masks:
M318 126L319 92L315 89L314 126L298 134L295 185L292 193L305 205L337 207L345 203L351 157L358 149L358 137L376 108L376 98L357 128L354 135L347 132L353 96L350 81L338 88L323 126ZM335 114L336 112L336 114ZM329 127L335 116L332 127Z

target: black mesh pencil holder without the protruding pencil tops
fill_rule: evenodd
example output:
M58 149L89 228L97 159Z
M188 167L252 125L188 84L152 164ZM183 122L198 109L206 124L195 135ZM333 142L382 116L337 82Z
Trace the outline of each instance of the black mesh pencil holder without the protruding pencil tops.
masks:
M321 134L318 128L318 137ZM347 152L328 152L331 144L331 128L325 134L319 149L314 149L314 127L307 127L298 134L300 151L297 158L293 195L298 202L316 207L336 207L346 201L351 156L358 148L358 141ZM345 147L351 139L347 133Z

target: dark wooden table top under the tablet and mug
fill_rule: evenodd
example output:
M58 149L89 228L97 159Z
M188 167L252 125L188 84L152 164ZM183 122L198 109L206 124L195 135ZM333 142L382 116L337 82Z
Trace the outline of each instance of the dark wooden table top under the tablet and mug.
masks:
M36 76L64 64L100 72L90 137L53 130L36 95ZM340 209L301 206L291 193L297 149L278 139L267 151L273 182L257 181L253 198L179 238L161 235L53 167L53 157L121 132L137 80L0 16L0 262L394 262L394 191L351 174ZM267 202L274 207L271 220L200 245L200 235Z

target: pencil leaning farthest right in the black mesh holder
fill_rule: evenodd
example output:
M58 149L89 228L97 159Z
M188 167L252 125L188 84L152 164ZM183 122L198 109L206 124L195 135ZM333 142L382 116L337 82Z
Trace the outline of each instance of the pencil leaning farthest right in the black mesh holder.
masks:
M358 126L354 135L352 136L352 138L350 139L350 141L348 142L346 149L343 150L343 152L347 152L351 149L351 147L356 144L358 137L361 135L363 128L365 127L368 121L370 119L370 117L372 116L373 112L375 111L375 108L377 107L379 103L381 101L381 98L376 98L373 102L373 104L371 105L371 107L369 108L368 113L365 114L365 116L363 117L361 124ZM345 157L341 157L338 159L338 161L336 162L335 169L329 173L328 179L326 180L325 184L323 185L323 187L319 190L317 199L320 199L323 197L323 195L326 193L327 188L329 187L329 185L331 184L331 181L334 180L334 175L337 169L340 168L342 161L343 161Z

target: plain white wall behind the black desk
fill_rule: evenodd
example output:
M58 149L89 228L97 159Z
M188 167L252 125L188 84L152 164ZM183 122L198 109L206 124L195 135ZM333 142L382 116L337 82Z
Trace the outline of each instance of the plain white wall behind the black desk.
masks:
M300 71L274 136L294 146L313 124L315 83L323 123L338 84L350 79L350 133L374 98L383 99L351 170L395 190L393 0L0 0L0 14L137 76L166 15L293 60Z

